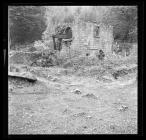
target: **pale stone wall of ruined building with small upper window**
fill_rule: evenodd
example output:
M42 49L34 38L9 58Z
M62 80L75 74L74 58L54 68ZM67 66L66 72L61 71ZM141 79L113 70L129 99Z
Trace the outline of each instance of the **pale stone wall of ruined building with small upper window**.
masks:
M112 53L113 28L111 26L80 21L74 23L71 28L73 33L72 48L83 49L90 54L99 49L105 53Z

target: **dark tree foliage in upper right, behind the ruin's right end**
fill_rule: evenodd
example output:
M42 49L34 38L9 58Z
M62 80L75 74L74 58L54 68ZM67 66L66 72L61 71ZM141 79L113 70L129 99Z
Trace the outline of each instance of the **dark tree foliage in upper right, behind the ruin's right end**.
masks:
M137 36L137 7L112 6L105 13L102 22L113 26L115 40L134 41L132 38L134 39L134 36L135 38ZM130 32L133 32L133 34L130 34Z

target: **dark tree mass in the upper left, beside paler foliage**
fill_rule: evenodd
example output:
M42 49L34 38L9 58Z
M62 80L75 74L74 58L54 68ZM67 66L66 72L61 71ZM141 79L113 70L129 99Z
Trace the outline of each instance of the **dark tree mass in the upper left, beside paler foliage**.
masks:
M41 39L46 28L44 14L45 8L41 6L10 6L9 19L13 23L10 29L12 46Z

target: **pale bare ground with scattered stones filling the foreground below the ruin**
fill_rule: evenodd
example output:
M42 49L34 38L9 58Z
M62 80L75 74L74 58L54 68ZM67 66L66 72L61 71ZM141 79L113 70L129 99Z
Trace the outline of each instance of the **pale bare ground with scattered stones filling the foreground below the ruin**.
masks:
M137 134L136 78L103 82L60 69L32 84L9 78L9 134Z

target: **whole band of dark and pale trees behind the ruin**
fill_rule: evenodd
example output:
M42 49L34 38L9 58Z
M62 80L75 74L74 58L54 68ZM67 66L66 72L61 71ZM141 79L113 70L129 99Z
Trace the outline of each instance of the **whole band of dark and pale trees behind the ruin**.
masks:
M77 19L112 25L116 41L137 41L136 6L9 6L11 45L48 41L55 26Z

